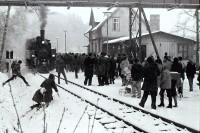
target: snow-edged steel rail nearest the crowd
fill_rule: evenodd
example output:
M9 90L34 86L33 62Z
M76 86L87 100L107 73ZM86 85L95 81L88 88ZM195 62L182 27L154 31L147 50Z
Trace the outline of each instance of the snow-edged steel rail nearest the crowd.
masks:
M55 75L55 76L57 77L57 75ZM61 79L64 80L63 78L61 78ZM112 99L112 100L115 101L115 102L118 102L118 103L120 103L120 104L122 104L122 105L126 105L126 106L131 107L131 108L134 108L135 110L141 111L142 113L150 114L152 117L155 117L155 118L157 118L157 119L161 119L161 120L163 120L163 121L165 121L165 122L167 122L167 123L172 123L172 124L174 124L175 126L181 128L181 129L187 129L188 131L190 131L190 132L192 132L192 133L200 133L200 131L198 131L198 130L196 130L196 129L194 129L194 128L188 127L188 126L186 126L186 125L184 125L184 124L175 122L175 121L170 120L170 119L168 119L168 118L165 118L165 117L163 117L163 116L159 116L159 115L153 114L153 113L151 113L151 112L148 112L148 111L146 111L146 110L143 110L143 109L138 108L138 107L136 107L136 106L133 106L133 105L131 105L131 104L125 103L125 102L123 102L123 101L121 101L121 100L119 100L119 99L111 98L111 97L109 97L109 96L107 96L107 95L105 95L105 94L102 94L102 93L100 93L100 92L96 92L96 91L94 91L94 90L91 90L91 89L89 89L89 88L87 88L87 87L85 87L85 86L79 85L79 84L74 83L74 82L72 82L72 81L69 81L69 80L67 80L67 81L68 81L69 83L71 83L71 84L74 84L74 85L78 86L78 87L81 87L81 88L83 88L83 89L86 89L86 90L88 90L88 91L91 91L91 92L93 92L93 93L95 93L95 94L97 94L97 95L103 96L103 97L105 97L105 98L107 98L107 99Z

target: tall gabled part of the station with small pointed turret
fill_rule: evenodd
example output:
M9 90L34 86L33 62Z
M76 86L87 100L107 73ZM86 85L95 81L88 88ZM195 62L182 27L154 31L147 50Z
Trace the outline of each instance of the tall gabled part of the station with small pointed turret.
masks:
M101 22L96 22L93 10L90 14L90 29L85 33L88 34L89 46L88 52L102 52L102 44L105 41L125 37L129 35L129 9L112 8L104 12L105 17ZM138 16L133 24L133 34L138 31ZM142 31L146 31L144 20L142 20ZM106 51L105 51L106 52Z

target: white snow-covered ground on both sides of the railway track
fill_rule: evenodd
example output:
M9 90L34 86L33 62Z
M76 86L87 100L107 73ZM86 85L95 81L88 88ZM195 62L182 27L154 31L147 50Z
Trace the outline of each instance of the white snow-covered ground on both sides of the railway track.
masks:
M54 72L53 72L54 73ZM48 75L45 75L48 76ZM0 73L0 83L7 80L9 76L4 73ZM43 111L33 111L28 113L25 117L22 115L29 110L30 105L33 104L32 96L34 92L39 88L41 82L44 80L42 77L35 76L33 74L25 74L26 79L30 83L30 87L26 87L23 81L19 78L11 81L12 92L16 102L16 107L20 116L20 121L22 124L22 129L24 133L41 133L43 130ZM67 78L71 81L77 82L83 85L84 74L79 73L79 78L75 79L74 73L67 73ZM56 80L57 82L57 80ZM150 107L151 98L149 97L146 104L145 110L151 111L152 113L162 115L163 117L169 118L171 120L177 121L196 130L200 130L200 90L196 85L196 78L194 81L194 91L189 92L188 81L184 81L184 97L178 99L178 107L167 109L167 108L157 108L152 110ZM73 89L73 85L66 85L64 81L61 85L67 88ZM132 98L130 96L121 96L119 94L119 89L122 88L121 80L116 79L114 85L99 87L97 83L96 76L93 77L93 85L88 86L95 91L104 93L110 97L118 98L122 101L130 103L132 105L138 106L140 99ZM59 88L58 88L59 89ZM78 123L81 115L87 106L81 100L73 98L70 94L67 94L63 90L59 89L60 97L54 93L54 101L45 110L46 119L48 122L47 132L55 133L57 131L60 118L65 108L65 114L63 117L63 122L60 126L60 133L73 132ZM81 93L81 92L80 92ZM157 104L159 104L159 96L157 97ZM167 99L165 104L167 105ZM139 107L139 106L138 106ZM10 88L8 84L4 87L0 87L0 132L5 132L9 129L9 132L15 133L15 128L17 129L17 117L13 107L12 98L10 95ZM76 133L88 132L89 125L89 112L94 113L94 109L88 107L86 113L83 115L83 119L78 124ZM90 120L89 129L92 128L92 119ZM148 123L147 123L148 124ZM94 133L107 133L111 132L106 130L101 124L95 122ZM120 131L122 132L122 131Z

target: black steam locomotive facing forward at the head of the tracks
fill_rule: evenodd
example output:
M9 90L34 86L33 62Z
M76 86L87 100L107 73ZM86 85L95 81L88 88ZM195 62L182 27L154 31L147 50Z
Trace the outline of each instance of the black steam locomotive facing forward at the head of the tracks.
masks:
M56 49L51 48L50 40L45 39L45 30L40 36L26 41L26 64L39 73L48 73L55 67Z

